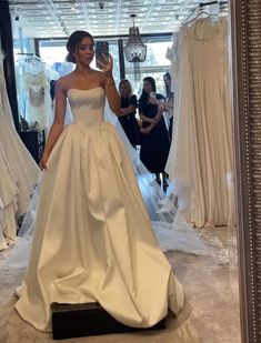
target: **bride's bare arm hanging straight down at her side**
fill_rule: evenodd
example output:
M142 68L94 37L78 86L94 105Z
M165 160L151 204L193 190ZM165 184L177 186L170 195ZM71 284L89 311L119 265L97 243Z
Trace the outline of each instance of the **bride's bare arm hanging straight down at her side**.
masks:
M41 158L41 161L39 163L41 170L47 169L47 161L49 159L49 155L56 145L56 142L58 138L60 137L63 125L64 125L64 115L67 110L67 97L66 92L60 84L61 82L57 82L56 84L56 112L54 112L54 119L48 135L48 141Z

